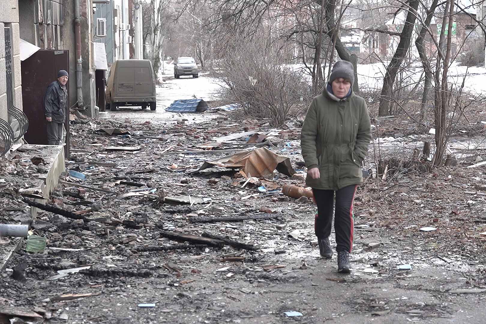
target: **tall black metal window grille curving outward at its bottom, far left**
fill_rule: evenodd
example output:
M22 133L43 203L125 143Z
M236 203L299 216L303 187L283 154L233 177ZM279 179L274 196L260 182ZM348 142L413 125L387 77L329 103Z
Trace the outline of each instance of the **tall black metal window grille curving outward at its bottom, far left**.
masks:
M24 136L29 128L29 119L24 112L14 105L14 88L12 85L12 41L11 28L5 27L5 74L7 79L7 106L9 122L14 126L13 142L16 142L20 137ZM17 124L15 124L17 121ZM12 127L11 127L12 128ZM12 128L13 129L13 128ZM12 143L13 144L13 143ZM10 149L10 148L9 148Z

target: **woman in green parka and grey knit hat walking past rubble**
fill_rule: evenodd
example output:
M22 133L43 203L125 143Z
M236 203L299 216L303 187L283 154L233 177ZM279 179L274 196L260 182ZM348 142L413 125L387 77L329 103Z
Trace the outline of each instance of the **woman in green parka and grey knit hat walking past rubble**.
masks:
M353 93L351 63L338 61L329 83L312 100L300 139L317 215L315 235L322 257L331 258L329 241L335 198L334 230L338 272L349 273L353 246L353 200L363 182L361 165L371 140L371 125L364 99Z

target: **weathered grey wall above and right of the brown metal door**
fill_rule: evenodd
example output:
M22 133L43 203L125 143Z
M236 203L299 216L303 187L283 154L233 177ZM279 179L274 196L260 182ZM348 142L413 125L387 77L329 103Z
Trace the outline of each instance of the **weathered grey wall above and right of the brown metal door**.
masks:
M76 6L79 8L79 17ZM69 104L86 109L94 117L95 82L93 0L18 0L20 38L45 50L69 51ZM76 47L76 22L81 41ZM77 56L80 53L80 57ZM81 73L77 73L81 63ZM77 81L81 74L81 94Z

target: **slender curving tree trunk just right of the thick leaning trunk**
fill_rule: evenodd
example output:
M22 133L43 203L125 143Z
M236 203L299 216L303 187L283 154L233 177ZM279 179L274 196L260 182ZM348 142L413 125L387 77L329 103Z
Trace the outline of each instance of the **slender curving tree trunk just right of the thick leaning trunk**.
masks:
M430 62L425 53L425 48L423 46L424 37L427 33L427 29L430 27L430 22L437 7L438 0L434 0L431 5L431 9L427 11L427 17L425 18L424 25L418 34L417 40L415 41L415 46L417 47L418 56L420 56L420 61L425 71L425 81L424 81L424 91L422 94L422 102L420 106L420 122L427 126L427 104L429 101L429 93L432 85L432 68Z

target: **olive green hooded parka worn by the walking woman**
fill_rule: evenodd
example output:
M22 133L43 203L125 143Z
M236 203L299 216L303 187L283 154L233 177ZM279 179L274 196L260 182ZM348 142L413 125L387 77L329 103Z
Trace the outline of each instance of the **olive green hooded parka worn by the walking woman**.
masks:
M308 187L338 190L363 182L361 163L368 152L371 125L363 98L353 92L339 99L330 85L312 100L300 145L308 169L318 167L319 179L307 175Z

